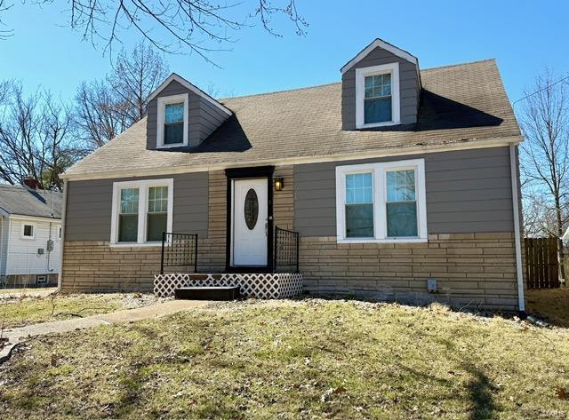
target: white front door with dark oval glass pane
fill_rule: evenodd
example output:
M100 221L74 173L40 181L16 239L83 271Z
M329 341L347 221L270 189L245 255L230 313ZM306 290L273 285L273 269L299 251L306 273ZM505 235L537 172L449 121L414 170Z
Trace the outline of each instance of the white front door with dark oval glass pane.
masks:
M267 265L267 182L233 181L233 265Z

